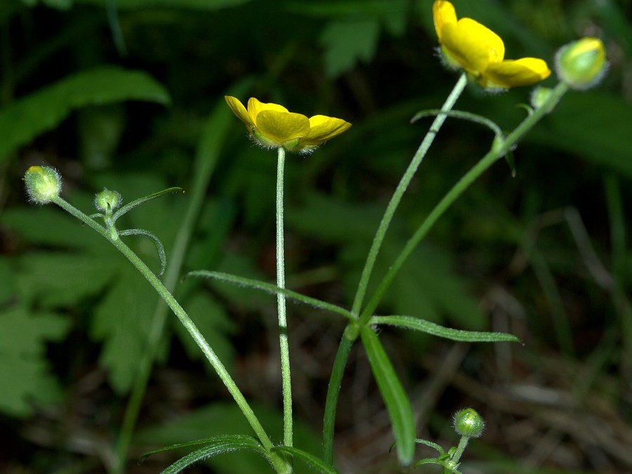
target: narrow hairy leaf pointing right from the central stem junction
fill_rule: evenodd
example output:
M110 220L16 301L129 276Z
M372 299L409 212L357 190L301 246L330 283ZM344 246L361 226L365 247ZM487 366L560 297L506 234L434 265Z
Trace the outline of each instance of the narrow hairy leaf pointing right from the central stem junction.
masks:
M414 331L422 331L432 336L452 339L452 341L520 342L520 339L513 336L513 334L503 332L463 331L462 329L443 327L434 322L421 320L418 317L412 316L374 316L371 317L369 324L388 324L404 329L414 329Z

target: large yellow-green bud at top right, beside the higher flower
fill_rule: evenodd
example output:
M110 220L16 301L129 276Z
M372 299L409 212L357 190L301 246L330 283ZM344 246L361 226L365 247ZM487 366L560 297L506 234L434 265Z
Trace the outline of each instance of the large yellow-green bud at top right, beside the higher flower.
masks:
M603 42L585 37L562 46L555 56L558 77L570 88L587 89L599 84L608 69Z

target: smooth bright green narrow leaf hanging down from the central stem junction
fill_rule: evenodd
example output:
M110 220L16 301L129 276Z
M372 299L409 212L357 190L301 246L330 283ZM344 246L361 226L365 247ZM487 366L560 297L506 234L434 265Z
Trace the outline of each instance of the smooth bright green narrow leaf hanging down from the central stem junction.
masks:
M408 466L412 462L416 439L415 420L410 401L373 329L369 326L362 327L360 336L369 358L371 371L386 404L390 422L393 424L397 457L402 465Z

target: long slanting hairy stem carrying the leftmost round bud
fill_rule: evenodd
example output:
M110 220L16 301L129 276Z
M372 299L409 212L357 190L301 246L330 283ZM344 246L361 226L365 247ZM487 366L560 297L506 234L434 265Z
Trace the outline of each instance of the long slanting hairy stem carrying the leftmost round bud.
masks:
M154 289L165 301L165 303L169 305L169 308L171 308L171 310L178 317L185 329L187 329L195 343L197 343L199 348L202 350L202 353L204 353L206 359L209 360L211 366L213 367L213 369L215 369L216 373L228 389L228 392L230 393L230 395L232 395L233 399L239 406L239 409L242 410L242 413L246 417L246 420L250 423L250 426L259 438L261 445L263 445L265 450L268 451L270 462L275 467L277 472L291 472L284 459L282 459L277 454L270 452L270 449L272 449L273 447L272 442L270 441L270 437L268 437L268 434L265 433L263 426L261 425L260 421L257 419L256 415L252 411L250 405L244 398L244 395L237 387L237 384L232 379L222 362L219 360L209 343L206 342L206 339L204 339L202 333L200 333L199 329L197 329L195 323L192 322L191 318L187 315L182 306L180 306L180 303L176 301L176 298L174 298L169 290L164 287L164 284L162 284L160 279L156 275L154 275L154 272L152 272L152 270L150 270L150 268L145 265L145 262L143 262L138 257L138 255L136 255L129 248L129 246L126 246L126 244L124 244L124 242L122 242L121 239L119 239L117 236L112 237L110 235L110 232L107 232L107 230L102 225L96 223L95 220L93 220L89 216L86 216L86 214L82 213L81 211L79 211L79 209L75 208L60 197L56 197L55 199L53 199L53 202L55 202L55 204L60 206L68 213L72 214L72 216L81 220L81 222L85 223L93 230L96 230L96 232L98 232L100 235L105 237L105 239L110 241L110 243L114 245L114 247L116 247L117 250L119 250L121 254L123 254L132 263L132 265L134 265L134 267L136 267L140 274L143 275L145 279L147 279L147 282L149 282L152 287L154 287Z

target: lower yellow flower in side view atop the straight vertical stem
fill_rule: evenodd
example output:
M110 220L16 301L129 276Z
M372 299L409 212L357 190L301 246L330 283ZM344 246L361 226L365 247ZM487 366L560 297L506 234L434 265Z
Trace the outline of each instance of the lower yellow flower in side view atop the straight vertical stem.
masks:
M291 152L308 152L347 131L351 124L343 119L315 115L305 117L289 112L282 105L265 104L251 97L248 110L232 96L224 96L230 110L246 124L248 133L264 147L284 147Z

